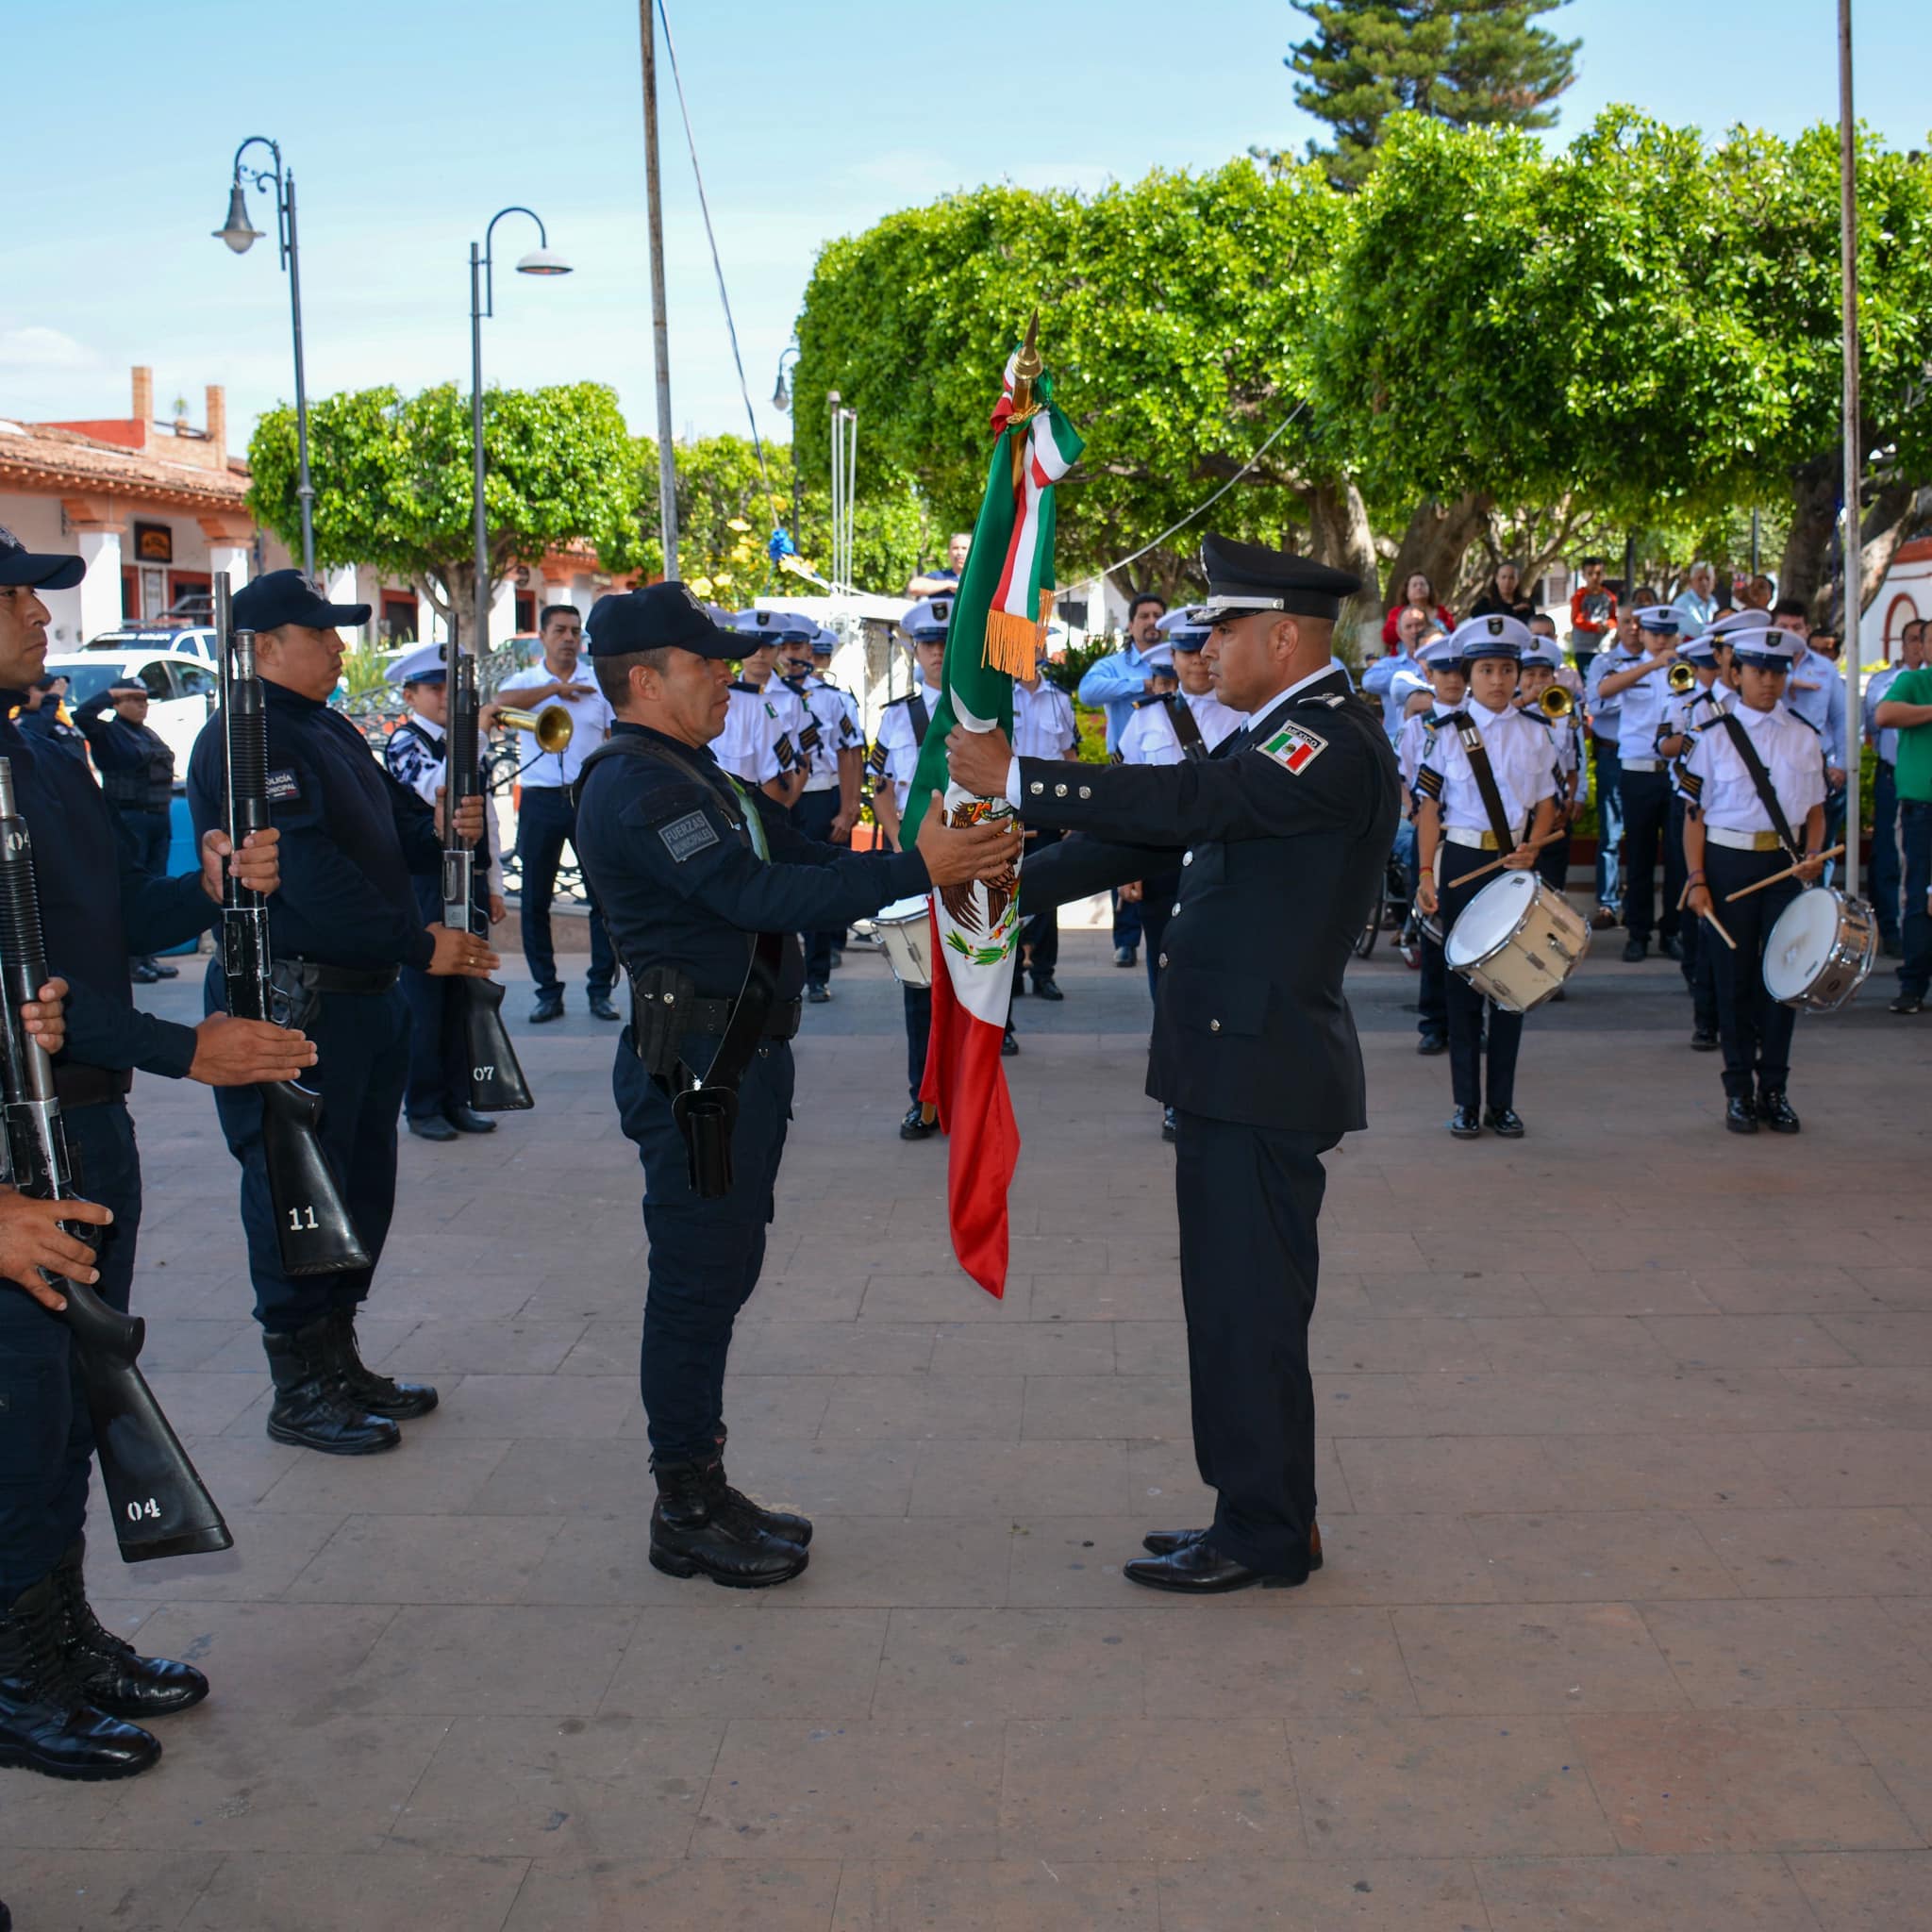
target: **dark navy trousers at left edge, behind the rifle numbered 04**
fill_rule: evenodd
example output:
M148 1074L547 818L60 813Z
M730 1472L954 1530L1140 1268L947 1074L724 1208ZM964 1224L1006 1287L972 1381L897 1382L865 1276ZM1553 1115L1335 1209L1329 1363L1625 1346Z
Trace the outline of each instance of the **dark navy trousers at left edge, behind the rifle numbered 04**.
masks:
M128 1310L141 1233L141 1159L122 1101L64 1113L79 1192L114 1209L95 1293ZM93 1420L68 1329L31 1294L0 1285L0 1609L39 1582L87 1524Z

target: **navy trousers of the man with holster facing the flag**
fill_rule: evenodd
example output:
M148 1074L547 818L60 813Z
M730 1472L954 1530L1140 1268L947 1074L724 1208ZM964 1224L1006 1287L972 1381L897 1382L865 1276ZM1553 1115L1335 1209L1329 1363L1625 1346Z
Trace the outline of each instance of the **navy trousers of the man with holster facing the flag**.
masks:
M715 1051L717 1039L697 1037L688 1037L680 1049L697 1074ZM651 1461L711 1461L724 1441L724 1362L732 1329L765 1265L765 1229L792 1119L792 1049L784 1041L759 1047L738 1082L732 1186L723 1200L699 1200L692 1192L684 1136L670 1117L670 1101L638 1063L628 1026L611 1088L624 1132L643 1163L643 1231L651 1258L638 1383Z

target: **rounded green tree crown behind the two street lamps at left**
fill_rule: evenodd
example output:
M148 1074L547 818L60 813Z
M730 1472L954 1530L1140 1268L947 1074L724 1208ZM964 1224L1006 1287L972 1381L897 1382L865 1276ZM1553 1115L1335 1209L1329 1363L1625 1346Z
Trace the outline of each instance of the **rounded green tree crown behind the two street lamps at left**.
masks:
M645 452L649 444L641 446ZM483 502L491 578L558 543L595 545L607 570L649 564L639 526L639 446L601 383L493 388L483 396ZM315 554L375 564L444 616L473 611L469 398L452 383L402 396L365 388L309 408ZM296 412L270 410L249 439L249 506L296 543Z

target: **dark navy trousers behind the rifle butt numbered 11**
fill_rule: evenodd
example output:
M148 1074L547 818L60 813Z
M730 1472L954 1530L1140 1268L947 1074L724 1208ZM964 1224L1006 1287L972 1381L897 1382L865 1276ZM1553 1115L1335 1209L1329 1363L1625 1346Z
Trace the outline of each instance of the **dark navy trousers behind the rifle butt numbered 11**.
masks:
M207 1010L226 1010L226 993L216 956L209 960ZM216 1088L214 1113L228 1151L242 1163L242 1231L255 1283L255 1320L280 1335L338 1308L359 1308L369 1298L396 1209L396 1117L410 1078L410 1007L400 987L317 993L296 1024L315 1041L317 1061L303 1084L321 1090L323 1151L369 1250L369 1265L346 1275L282 1273L261 1144L261 1095L255 1088Z

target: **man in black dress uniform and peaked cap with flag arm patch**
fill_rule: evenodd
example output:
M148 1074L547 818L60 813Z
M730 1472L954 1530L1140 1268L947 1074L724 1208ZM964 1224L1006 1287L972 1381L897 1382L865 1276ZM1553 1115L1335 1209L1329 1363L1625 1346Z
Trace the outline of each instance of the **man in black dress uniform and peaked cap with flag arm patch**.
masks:
M1180 1293L1206 1530L1148 1538L1126 1575L1206 1594L1298 1584L1321 1561L1308 1320L1321 1155L1368 1124L1343 968L1395 840L1401 784L1376 711L1329 667L1345 572L1202 545L1215 694L1250 723L1204 763L1012 759L956 730L952 779L1078 838L1030 862L1028 902L1146 877L1180 846L1148 1094L1175 1109Z

